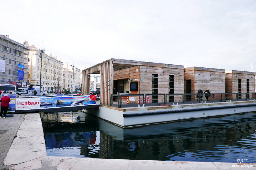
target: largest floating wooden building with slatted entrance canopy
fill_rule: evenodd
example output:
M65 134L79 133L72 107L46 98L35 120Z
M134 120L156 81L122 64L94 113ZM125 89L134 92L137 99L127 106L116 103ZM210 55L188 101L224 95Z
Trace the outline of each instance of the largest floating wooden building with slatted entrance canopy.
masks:
M89 94L90 76L100 74L100 104L110 106L115 88L120 94L184 93L184 66L109 59L82 71L82 93Z

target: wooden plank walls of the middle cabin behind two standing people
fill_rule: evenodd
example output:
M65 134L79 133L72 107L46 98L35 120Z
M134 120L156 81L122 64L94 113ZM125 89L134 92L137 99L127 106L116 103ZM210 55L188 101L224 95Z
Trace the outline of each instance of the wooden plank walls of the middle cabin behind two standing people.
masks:
M224 69L188 67L184 70L184 93L187 93L187 80L191 80L191 93L197 93L199 88L203 92L207 88L211 93L225 93Z

